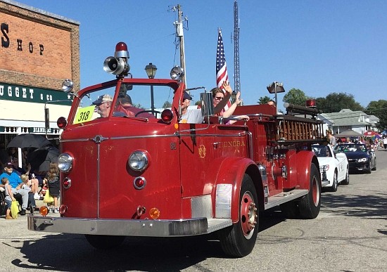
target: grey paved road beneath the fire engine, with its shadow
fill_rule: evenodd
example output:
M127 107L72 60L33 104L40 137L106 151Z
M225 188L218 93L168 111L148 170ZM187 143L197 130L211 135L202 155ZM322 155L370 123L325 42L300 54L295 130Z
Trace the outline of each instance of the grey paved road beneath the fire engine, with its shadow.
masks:
M0 271L387 271L387 152L376 156L372 174L323 193L317 219L260 216L255 248L241 259L222 256L211 235L132 238L101 252L82 235L27 231L20 216L0 219Z

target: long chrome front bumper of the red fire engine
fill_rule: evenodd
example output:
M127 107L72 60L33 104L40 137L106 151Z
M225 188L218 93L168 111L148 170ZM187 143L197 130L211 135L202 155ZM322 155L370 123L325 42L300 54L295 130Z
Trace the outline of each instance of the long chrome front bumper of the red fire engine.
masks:
M231 219L127 220L79 219L28 215L30 231L77 233L91 235L123 235L169 237L211 233L231 226Z

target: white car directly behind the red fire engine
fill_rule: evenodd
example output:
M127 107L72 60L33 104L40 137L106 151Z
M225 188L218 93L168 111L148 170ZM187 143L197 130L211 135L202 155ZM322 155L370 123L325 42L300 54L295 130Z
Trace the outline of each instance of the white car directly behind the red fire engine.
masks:
M338 184L349 184L349 165L344 153L334 153L331 145L312 145L319 160L322 187L336 192Z

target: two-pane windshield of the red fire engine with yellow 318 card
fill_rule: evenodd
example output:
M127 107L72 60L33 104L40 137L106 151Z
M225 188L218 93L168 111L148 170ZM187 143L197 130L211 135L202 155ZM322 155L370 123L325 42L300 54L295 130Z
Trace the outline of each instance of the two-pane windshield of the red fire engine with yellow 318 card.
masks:
M172 106L174 90L170 86L123 83L118 99L113 101L115 89L114 85L83 93L72 124L109 116L156 119Z

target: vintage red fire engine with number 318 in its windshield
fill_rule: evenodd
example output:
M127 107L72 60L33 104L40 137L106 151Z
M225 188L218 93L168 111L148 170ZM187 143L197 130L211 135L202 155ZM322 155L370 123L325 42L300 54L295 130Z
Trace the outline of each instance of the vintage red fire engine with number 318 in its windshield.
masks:
M313 116L313 109L289 105L277 115L272 105L240 106L234 114L250 120L225 124L210 115L212 95L204 89L204 122L184 124L182 69L174 67L172 79L132 78L128 60L127 45L118 43L104 63L116 79L70 91L68 119L58 119L60 216L42 207L28 216L29 230L84 234L99 248L127 236L216 232L225 254L243 257L255 245L260 211L279 206L286 216L319 214L321 179L311 145L322 141L322 122L293 114ZM127 95L149 110L120 112ZM172 107L158 110L157 101ZM102 117L94 104L110 112Z

